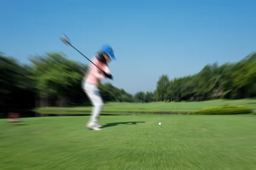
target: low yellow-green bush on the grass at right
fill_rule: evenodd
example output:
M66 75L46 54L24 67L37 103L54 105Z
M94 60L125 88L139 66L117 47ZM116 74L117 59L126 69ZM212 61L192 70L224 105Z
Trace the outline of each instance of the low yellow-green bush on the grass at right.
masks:
M227 115L227 114L248 114L251 113L251 109L245 108L244 106L221 106L213 108L204 108L198 111L192 111L189 114L195 115L207 115L207 114L218 114L218 115Z

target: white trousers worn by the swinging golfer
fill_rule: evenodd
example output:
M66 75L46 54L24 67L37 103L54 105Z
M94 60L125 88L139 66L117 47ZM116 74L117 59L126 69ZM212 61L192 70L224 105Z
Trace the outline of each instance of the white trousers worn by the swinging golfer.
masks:
M98 123L99 113L103 108L103 101L99 93L99 89L97 85L88 82L83 82L82 88L83 91L87 94L88 98L90 99L90 102L94 106L91 114L90 123Z

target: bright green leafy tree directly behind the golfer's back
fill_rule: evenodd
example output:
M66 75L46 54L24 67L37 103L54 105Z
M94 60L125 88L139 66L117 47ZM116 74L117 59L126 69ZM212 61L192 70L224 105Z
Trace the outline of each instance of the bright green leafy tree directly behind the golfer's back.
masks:
M49 99L53 98L56 98L56 105L69 105L73 97L81 94L81 80L87 69L85 65L71 61L61 53L36 55L30 61L41 106L48 106Z

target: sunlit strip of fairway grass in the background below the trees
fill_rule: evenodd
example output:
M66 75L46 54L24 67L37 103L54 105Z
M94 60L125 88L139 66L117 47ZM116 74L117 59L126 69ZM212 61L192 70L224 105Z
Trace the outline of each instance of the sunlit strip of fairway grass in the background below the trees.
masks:
M215 106L237 106L244 105L251 109L256 109L256 99L241 100L210 100L206 102L152 102L152 103L108 103L104 106L103 112L108 113L171 113L190 112L202 108ZM91 107L70 107L70 108L38 108L39 113L88 113Z

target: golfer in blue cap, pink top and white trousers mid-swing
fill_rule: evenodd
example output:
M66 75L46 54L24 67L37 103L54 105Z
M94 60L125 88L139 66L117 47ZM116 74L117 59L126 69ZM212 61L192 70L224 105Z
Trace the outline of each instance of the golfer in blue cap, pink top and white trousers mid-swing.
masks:
M108 62L111 62L111 60L115 59L116 58L111 46L103 45L102 48L93 57L92 62L104 72L102 72L99 68L91 63L89 65L87 74L84 76L82 88L93 105L90 121L86 125L86 127L91 130L101 130L102 126L99 125L99 113L102 110L104 103L99 93L98 85L102 79L113 79L111 71L108 67Z

